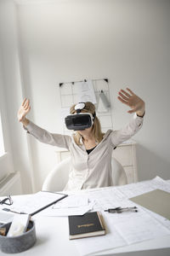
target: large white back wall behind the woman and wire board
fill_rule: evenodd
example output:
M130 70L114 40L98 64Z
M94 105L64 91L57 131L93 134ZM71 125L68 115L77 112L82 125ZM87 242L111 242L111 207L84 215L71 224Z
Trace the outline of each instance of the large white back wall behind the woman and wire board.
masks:
M131 116L116 96L128 86L146 102L144 126L134 137L139 180L156 175L170 178L170 2L16 2L28 2L17 5L17 16L22 86L31 99L30 119L48 131L61 132L58 83L106 77L115 129L121 128ZM20 127L16 137L22 132ZM31 138L31 159L36 189L40 189L56 162L54 148Z

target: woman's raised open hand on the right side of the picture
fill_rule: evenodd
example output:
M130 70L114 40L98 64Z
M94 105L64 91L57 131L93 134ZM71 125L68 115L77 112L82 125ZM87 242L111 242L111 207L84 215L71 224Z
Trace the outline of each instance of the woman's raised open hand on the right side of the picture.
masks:
M135 95L132 90L127 88L127 91L120 90L118 96L119 101L131 108L131 110L128 110L127 112L134 113L144 111L144 101L139 98L139 96Z

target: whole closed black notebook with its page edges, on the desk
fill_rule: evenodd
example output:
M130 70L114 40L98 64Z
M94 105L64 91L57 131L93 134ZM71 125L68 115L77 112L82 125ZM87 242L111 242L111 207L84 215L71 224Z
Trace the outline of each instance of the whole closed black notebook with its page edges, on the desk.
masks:
M105 227L99 212L69 216L69 239L105 235Z

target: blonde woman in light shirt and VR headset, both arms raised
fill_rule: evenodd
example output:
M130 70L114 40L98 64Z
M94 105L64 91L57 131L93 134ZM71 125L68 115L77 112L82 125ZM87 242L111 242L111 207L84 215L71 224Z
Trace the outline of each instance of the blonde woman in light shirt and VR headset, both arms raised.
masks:
M71 153L71 173L65 190L91 189L112 186L111 154L116 146L139 131L143 124L144 101L132 90L120 90L119 101L134 113L133 119L122 129L103 133L92 102L80 102L70 109L65 118L68 129L76 131L72 136L50 133L26 119L31 107L28 99L20 106L18 119L32 136L42 143L66 148Z

